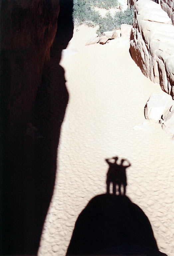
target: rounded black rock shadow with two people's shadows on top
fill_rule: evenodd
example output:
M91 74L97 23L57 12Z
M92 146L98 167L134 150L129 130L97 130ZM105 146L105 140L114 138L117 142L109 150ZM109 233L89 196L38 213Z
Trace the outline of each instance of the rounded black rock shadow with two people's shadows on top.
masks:
M66 256L167 256L158 250L151 224L141 208L131 202L125 191L116 195L113 189L114 193L109 193L108 184L115 177L119 184L125 185L125 169L130 166L129 163L123 168L124 159L120 165L116 163L118 157L112 159L114 166L110 166L111 159L105 159L109 169L113 168L107 173L107 193L93 197L80 213ZM115 176L112 172L116 168L123 174Z

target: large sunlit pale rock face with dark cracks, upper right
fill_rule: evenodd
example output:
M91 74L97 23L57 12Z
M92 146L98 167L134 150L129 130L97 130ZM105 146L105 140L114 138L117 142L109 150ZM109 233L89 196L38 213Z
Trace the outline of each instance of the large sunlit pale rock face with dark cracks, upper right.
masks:
M160 5L151 0L135 4L130 52L142 73L160 83L174 99L174 26Z

